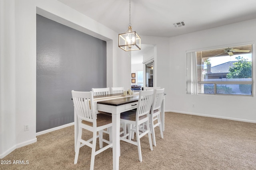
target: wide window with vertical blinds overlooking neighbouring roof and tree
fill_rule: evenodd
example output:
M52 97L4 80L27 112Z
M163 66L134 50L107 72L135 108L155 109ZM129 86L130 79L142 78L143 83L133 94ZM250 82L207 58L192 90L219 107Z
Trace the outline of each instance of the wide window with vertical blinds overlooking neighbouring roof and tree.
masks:
M252 96L252 51L243 45L188 53L187 93Z

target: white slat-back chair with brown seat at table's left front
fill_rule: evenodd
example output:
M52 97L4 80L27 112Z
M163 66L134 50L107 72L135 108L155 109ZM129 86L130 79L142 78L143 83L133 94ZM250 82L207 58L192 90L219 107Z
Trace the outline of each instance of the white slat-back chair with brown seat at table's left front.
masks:
M78 161L80 147L87 145L92 148L90 170L93 170L95 156L112 147L112 143L110 141L103 139L103 129L112 127L112 117L105 114L97 114L96 110L94 110L95 107L92 92L76 92L72 90L72 98L78 117L79 127L74 164ZM91 131L93 133L93 137L87 141L83 140L82 129ZM97 135L97 132L99 135ZM100 149L96 151L97 138L99 138ZM103 147L103 142L108 145Z

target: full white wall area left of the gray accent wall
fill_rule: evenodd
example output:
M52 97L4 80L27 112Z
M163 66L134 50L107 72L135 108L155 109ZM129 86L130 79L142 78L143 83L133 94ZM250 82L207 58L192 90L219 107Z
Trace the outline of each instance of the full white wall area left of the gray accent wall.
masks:
M36 16L30 15L36 9L33 0L0 3L1 27L4 25L0 44L1 158L16 147L36 142L36 72L31 72L36 69ZM26 124L29 131L24 131Z

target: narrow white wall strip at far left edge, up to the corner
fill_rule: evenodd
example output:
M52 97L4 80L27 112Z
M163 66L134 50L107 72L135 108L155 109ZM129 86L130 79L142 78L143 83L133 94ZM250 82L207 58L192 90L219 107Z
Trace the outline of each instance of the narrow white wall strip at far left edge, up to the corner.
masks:
M0 158L16 145L14 5L14 0L0 0Z

